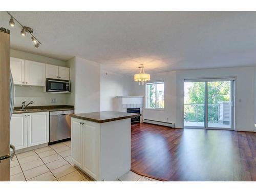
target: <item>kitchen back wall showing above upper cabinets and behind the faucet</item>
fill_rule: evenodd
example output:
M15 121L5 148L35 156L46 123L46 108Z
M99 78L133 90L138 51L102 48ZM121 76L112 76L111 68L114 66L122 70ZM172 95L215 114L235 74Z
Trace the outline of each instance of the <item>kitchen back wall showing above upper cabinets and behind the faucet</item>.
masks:
M51 65L66 66L66 61L49 58L41 55L31 54L23 51L11 49L11 57L33 60L37 62L49 63ZM34 101L31 105L57 105L66 104L68 94L43 93L42 87L15 86L15 103L14 106L21 106L25 100ZM51 99L55 98L56 102L51 103Z

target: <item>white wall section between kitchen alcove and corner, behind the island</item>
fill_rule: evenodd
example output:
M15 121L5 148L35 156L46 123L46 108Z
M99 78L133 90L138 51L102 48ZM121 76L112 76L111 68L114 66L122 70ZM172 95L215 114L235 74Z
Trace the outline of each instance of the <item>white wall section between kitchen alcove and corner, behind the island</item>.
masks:
M75 58L75 113L100 111L100 65Z

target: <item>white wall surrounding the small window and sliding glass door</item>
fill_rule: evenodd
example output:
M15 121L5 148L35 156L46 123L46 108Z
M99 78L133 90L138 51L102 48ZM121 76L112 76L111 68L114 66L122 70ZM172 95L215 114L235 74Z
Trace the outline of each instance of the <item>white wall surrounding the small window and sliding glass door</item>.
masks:
M144 110L144 118L174 122L176 127L182 128L184 78L236 77L236 130L256 131L254 127L254 111L256 113L256 106L254 107L254 98L256 99L256 95L254 96L253 90L255 86L254 81L256 83L254 74L256 74L254 67L182 70L152 74L152 81L164 80L165 82L165 110ZM136 95L140 95L142 92L145 95L145 87L143 87L143 91L138 86L135 86L135 88ZM241 102L238 102L239 99L241 99Z

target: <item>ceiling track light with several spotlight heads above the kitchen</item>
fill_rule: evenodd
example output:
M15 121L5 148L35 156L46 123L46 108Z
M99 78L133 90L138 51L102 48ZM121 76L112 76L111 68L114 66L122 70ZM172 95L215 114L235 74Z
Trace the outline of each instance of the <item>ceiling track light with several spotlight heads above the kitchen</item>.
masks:
M9 22L9 25L11 27L15 27L15 22L17 22L21 27L22 27L22 30L20 31L20 35L22 36L26 36L26 32L29 33L31 35L31 40L33 41L33 43L35 44L35 48L39 48L41 44L41 42L34 36L32 35L33 33L33 29L31 29L30 27L26 27L26 26L23 26L21 23L18 22L18 20L16 18L14 18L8 11L7 13L11 16L11 19L10 19L10 22Z

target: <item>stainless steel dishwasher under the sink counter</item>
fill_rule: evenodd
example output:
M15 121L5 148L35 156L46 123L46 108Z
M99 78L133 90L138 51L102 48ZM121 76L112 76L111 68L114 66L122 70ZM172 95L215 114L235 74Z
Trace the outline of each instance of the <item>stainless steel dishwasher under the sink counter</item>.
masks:
M49 143L71 138L71 117L74 110L50 112Z

